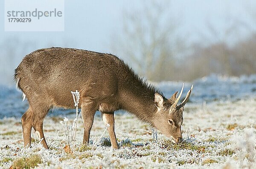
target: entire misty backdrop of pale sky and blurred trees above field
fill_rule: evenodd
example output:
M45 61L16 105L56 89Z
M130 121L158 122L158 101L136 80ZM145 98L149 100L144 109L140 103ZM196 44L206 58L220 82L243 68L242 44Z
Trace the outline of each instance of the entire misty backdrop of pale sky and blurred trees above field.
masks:
M65 0L64 17L63 32L5 32L0 15L0 85L52 46L114 54L155 82L256 74L253 0Z

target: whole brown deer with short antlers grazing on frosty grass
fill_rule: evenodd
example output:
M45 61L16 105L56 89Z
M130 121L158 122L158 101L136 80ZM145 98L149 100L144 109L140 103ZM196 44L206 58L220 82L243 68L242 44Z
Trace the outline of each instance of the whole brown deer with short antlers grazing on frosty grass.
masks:
M183 87L178 97L176 92L166 99L118 57L73 48L44 48L26 55L15 69L15 82L29 103L21 118L24 146L31 145L33 127L46 149L44 117L53 106L73 108L70 91L75 90L80 92L83 144L89 143L93 118L99 110L104 123L109 124L111 145L118 149L114 111L119 109L134 114L178 143L182 141L184 106L193 88L178 104Z

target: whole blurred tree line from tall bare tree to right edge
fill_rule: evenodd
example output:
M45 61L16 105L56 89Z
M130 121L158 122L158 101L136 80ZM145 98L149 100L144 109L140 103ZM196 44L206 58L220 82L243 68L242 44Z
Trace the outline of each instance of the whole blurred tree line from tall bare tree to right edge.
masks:
M236 20L224 32L218 32L210 23L209 33L215 42L188 45L189 35L179 36L180 23L169 13L169 2L150 1L137 11L124 14L123 34L113 45L125 61L151 81L194 80L212 73L240 76L256 73L256 32L230 45L227 38L237 36ZM220 36L220 34L224 36ZM201 35L198 35L201 36Z

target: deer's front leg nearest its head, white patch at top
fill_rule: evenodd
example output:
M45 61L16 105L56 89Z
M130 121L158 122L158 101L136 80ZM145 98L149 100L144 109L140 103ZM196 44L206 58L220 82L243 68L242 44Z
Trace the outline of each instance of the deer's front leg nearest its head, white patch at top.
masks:
M116 133L115 133L115 119L114 119L114 113L102 113L102 120L105 124L109 124L108 127L108 134L111 141L111 146L113 149L118 149L118 144L116 141Z

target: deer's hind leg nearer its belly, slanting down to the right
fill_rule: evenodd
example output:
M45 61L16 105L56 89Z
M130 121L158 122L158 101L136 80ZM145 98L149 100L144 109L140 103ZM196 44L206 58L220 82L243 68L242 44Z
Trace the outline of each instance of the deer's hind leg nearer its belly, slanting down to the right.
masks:
M35 132L38 134L39 138L42 139L41 144L43 144L45 149L48 149L43 130L44 117L47 115L49 108L38 107L35 111L35 115L32 120L32 126Z

